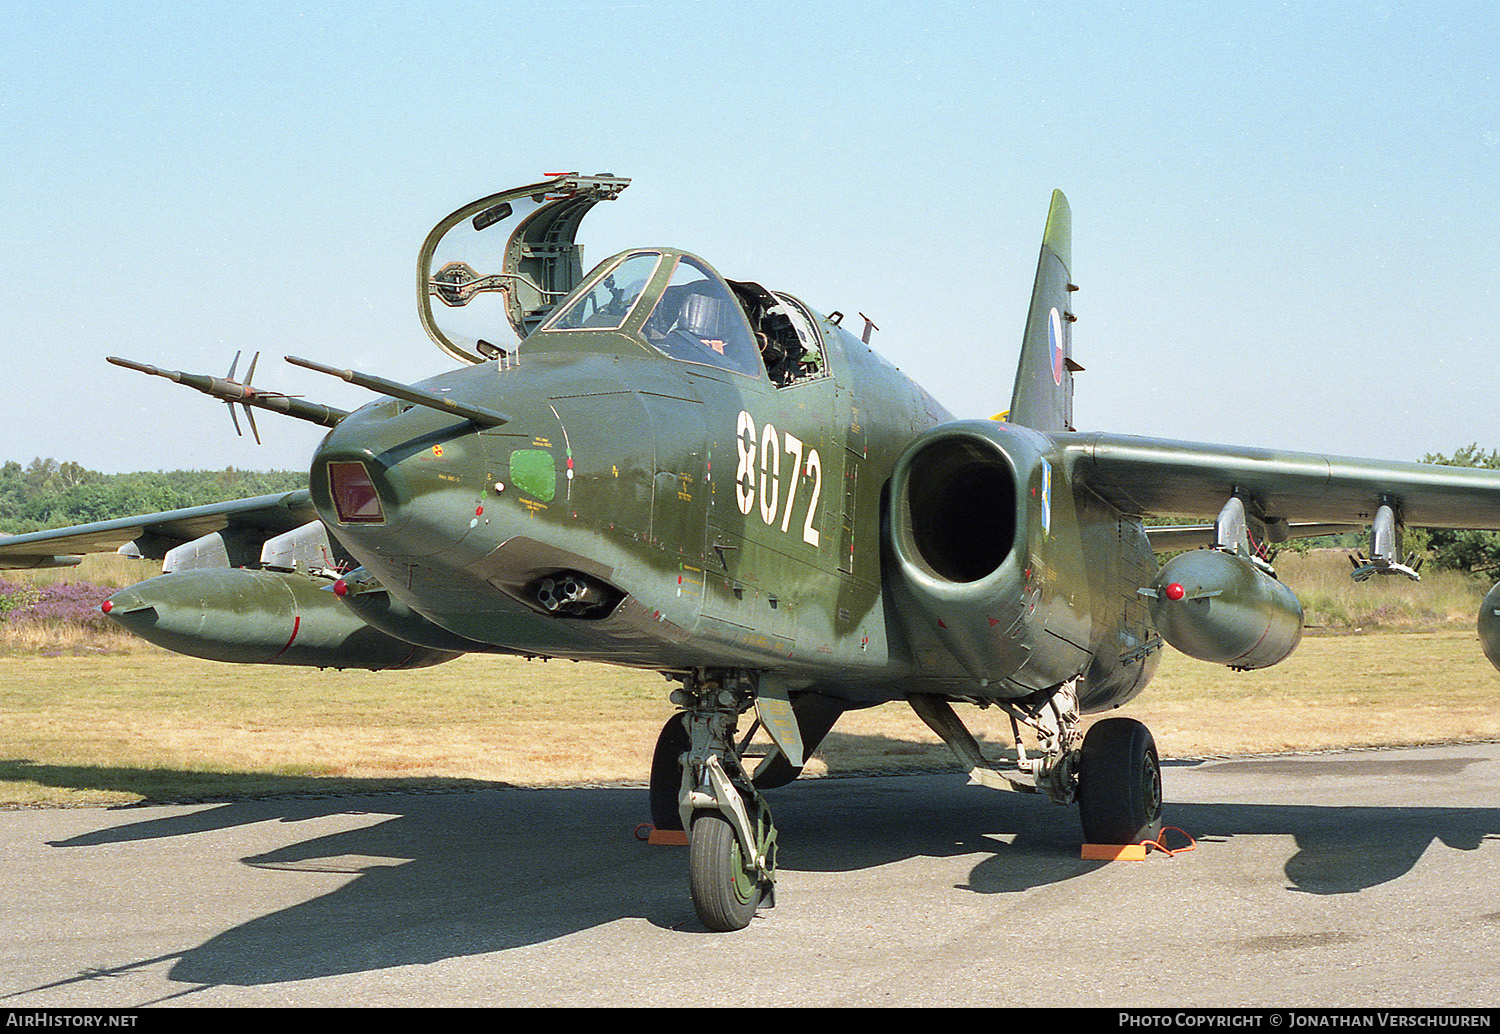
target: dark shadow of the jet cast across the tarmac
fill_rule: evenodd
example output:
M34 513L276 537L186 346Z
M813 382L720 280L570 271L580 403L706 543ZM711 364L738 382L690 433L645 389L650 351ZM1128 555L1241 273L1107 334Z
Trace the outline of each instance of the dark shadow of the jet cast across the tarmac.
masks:
M501 951L630 917L702 930L686 893L681 849L638 839L638 825L648 818L645 797L640 788L561 788L248 800L128 821L51 846L388 815L362 828L286 837L285 846L242 858L262 869L351 878L332 893L164 956L176 959L168 975L183 984L262 984ZM783 872L855 872L914 857L976 854L966 888L999 894L1102 864L1078 857L1072 809L968 786L962 774L860 785L802 780L770 797L782 830ZM1316 894L1396 879L1434 840L1478 849L1484 839L1500 836L1500 809L1490 807L1172 803L1166 821L1206 840L1290 836L1296 852L1286 861L1288 890ZM1370 849L1376 843L1380 851ZM108 893L104 882L100 893Z

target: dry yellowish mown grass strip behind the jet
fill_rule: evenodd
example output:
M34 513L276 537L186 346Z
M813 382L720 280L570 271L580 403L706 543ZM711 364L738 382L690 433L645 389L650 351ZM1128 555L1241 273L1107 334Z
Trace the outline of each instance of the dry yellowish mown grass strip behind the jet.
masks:
M0 659L0 806L396 786L640 782L669 683L462 657L416 672L244 668L156 650ZM1168 654L1125 711L1168 756L1500 738L1500 672L1472 632L1305 639L1260 672ZM993 708L964 719L1010 741ZM813 774L951 767L904 705L848 714Z

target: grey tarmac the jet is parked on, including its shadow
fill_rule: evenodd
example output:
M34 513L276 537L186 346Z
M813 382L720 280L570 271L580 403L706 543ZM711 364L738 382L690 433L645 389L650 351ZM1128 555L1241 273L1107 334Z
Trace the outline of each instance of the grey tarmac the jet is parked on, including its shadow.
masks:
M794 783L728 935L639 788L4 812L0 1008L1500 1002L1500 746L1164 782L1197 848L1114 863L962 774Z

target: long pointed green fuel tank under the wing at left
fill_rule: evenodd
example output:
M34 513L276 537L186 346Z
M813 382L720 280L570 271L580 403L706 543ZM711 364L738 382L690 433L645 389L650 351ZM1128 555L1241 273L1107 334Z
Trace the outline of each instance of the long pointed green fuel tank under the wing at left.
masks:
M174 653L240 665L426 668L459 656L372 629L322 584L274 570L198 567L122 588L100 608Z

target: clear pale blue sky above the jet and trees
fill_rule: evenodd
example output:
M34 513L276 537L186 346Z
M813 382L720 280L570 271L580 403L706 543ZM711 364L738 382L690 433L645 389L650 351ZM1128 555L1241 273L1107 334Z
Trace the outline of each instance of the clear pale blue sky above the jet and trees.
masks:
M0 459L303 467L318 429L104 362L352 407L400 380L426 231L543 173L1005 408L1047 198L1077 423L1416 459L1500 446L1491 3L9 3ZM243 365L242 365L243 371Z

